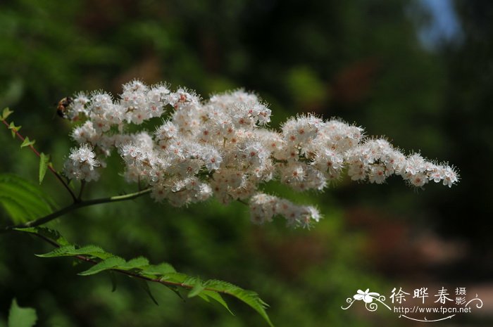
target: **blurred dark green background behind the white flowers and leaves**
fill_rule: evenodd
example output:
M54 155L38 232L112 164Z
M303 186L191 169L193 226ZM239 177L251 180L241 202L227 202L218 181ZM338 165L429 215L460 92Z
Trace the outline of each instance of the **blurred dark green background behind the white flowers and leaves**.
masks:
M270 103L272 127L316 112L449 161L461 174L451 189L413 191L399 178L383 186L344 178L324 193L268 186L320 207L325 218L309 231L254 226L239 203L177 210L149 198L89 207L51 226L74 243L256 290L276 326L414 326L340 309L358 288L388 296L401 286L468 287L485 307L442 326L491 326L492 41L487 0L3 0L0 107L15 111L58 169L73 143L53 104L77 91L118 94L134 78L204 97L243 86ZM37 158L7 129L0 144L0 172L37 181ZM109 161L121 167L116 156ZM86 197L132 187L114 169ZM52 176L43 188L58 205L70 202ZM111 293L104 274L77 276L84 267L70 259L35 257L50 247L26 235L2 234L0 244L0 326L13 297L37 309L37 326L266 326L235 300L227 299L231 316L151 286L156 306L125 276Z

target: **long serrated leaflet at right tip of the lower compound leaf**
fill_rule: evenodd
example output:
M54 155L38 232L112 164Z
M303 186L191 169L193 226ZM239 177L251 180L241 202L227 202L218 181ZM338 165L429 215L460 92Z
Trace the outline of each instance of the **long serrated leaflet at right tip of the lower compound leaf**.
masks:
M274 326L266 312L266 307L268 307L268 304L263 302L263 300L261 300L261 298L258 297L258 294L254 291L244 290L243 288L233 285L232 283L217 280L206 281L204 286L208 290L216 290L217 292L223 292L236 297L238 300L248 304L252 309L258 312L258 314L260 314L270 326Z

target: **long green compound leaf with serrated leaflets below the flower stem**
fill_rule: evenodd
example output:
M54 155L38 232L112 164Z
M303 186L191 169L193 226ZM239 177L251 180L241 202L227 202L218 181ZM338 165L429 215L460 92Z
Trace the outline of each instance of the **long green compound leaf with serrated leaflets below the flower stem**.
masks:
M157 301L151 294L147 281L161 283L164 286L168 286L168 288L171 288L172 290L175 290L175 288L188 289L188 297L198 296L207 302L209 302L209 298L211 298L216 300L216 302L219 302L223 305L223 307L231 312L226 302L223 300L223 297L219 294L223 293L236 297L238 300L248 304L252 309L258 312L258 314L260 314L270 326L273 326L273 323L270 321L266 313L266 307L268 307L268 305L266 302L263 302L263 300L261 300L261 298L258 297L258 294L254 291L244 290L243 288L239 288L232 283L214 279L202 282L200 278L188 276L187 274L182 274L175 271L170 264L161 263L158 265L151 265L149 264L149 260L145 257L137 257L127 261L122 257L106 252L96 245L76 247L75 245L68 244L65 241L65 238L63 238L58 231L45 229L42 227L16 230L27 233L35 233L42 236L42 238L48 238L50 243L58 246L58 248L50 252L37 255L38 257L76 257L77 259L94 264L89 269L80 272L80 276L99 274L103 271L119 272L133 278L139 278L142 288L144 288L146 293L156 304ZM58 241L61 241L61 243L58 243ZM113 281L112 283L114 290L116 286Z

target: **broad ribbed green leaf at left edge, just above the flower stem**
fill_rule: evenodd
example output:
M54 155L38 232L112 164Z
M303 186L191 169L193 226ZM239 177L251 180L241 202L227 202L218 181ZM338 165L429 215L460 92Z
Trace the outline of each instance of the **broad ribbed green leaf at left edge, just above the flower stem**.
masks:
M0 205L14 224L43 217L56 207L39 186L13 174L0 174Z

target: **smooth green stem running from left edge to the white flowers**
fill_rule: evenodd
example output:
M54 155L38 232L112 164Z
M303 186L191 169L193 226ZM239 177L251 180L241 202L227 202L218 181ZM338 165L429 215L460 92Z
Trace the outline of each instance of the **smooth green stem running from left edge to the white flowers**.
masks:
M24 224L18 224L14 226L6 226L3 229L0 229L0 233L4 233L6 231L11 231L13 229L23 229L27 227L35 227L39 226L42 224L46 224L47 222L51 222L51 220L56 219L58 217L63 216L63 214L66 214L68 212L72 212L74 210L77 210L81 207L88 207L89 205L99 205L101 203L112 203L112 202L118 202L118 201L125 201L125 200L132 200L135 198L138 198L141 195L150 193L151 189L147 188L143 191L135 192L135 193L130 193L130 194L125 194L125 195L116 195L116 196L111 196L109 198L99 198L99 199L93 199L93 200L80 200L78 202L75 202L68 207L64 207L61 210L58 210L56 212L51 212L51 214L48 214L44 217L41 217L39 219L32 220L30 222L26 222Z

